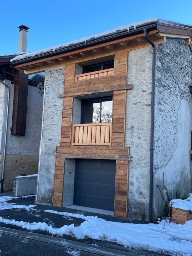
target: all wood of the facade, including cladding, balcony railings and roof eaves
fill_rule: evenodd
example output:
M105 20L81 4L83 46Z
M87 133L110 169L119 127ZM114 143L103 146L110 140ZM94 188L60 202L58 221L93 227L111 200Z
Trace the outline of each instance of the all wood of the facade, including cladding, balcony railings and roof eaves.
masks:
M158 30L148 32L155 44L164 44ZM66 158L116 160L114 215L127 217L129 184L129 147L125 147L126 94L132 88L127 84L127 60L130 50L150 46L144 34L62 53L15 66L26 74L65 66L63 113L60 146L56 147L53 206L62 206ZM76 63L114 55L114 68L86 74L76 72ZM74 97L111 92L113 95L112 122L73 124Z

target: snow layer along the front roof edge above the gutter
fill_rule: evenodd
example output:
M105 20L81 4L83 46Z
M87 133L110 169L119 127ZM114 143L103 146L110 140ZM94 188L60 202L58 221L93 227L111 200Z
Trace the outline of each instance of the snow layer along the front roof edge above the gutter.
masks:
M112 30L105 31L105 32L102 32L100 34L95 34L95 35L92 35L92 36L80 38L79 40L74 40L74 41L64 43L64 44L60 44L60 45L57 45L57 46L51 46L49 48L44 48L44 49L41 49L39 51L31 51L31 52L25 53L23 55L16 56L15 58L11 59L11 62L17 61L17 60L20 60L20 59L24 59L24 58L28 58L28 57L34 57L34 56L42 54L42 53L48 53L49 51L56 51L56 50L59 50L59 48L69 46L70 44L77 44L77 43L86 42L87 40L90 40L92 38L98 38L100 36L105 36L107 34L116 33L117 31L123 31L123 30L129 31L129 29L131 27L134 27L134 29L136 29L136 27L139 26L139 25L143 25L143 24L150 23L150 22L156 22L157 20L158 20L158 18L146 19L146 20L142 20L142 21L139 21L139 22L131 23L127 26L121 26L121 27L118 27L118 28L114 28Z

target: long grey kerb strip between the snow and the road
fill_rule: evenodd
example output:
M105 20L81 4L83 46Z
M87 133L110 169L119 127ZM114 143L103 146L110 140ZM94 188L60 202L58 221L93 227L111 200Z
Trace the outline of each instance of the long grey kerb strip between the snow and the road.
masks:
M63 246L79 251L85 251L88 253L94 253L97 255L114 255L114 256L136 256L138 254L134 253L129 253L125 251L120 251L108 247L102 247L102 246L96 246L92 244L87 244L87 243L81 243L78 241L73 241L73 240L66 240L58 237L52 237L52 236L46 236L43 234L37 234L37 233L31 233L28 231L22 231L22 230L16 230L12 228L5 228L5 227L0 227L0 232L3 234L7 234L10 236L18 236L22 238L27 238L31 240L36 240L44 243L50 243L58 246Z

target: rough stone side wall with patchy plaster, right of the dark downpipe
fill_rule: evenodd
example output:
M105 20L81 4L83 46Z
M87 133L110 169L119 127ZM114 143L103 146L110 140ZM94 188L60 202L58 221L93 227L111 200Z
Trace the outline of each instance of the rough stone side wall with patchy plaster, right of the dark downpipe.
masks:
M163 185L170 190L170 199L176 198L182 186L182 199L191 193L191 56L183 39L167 38L166 44L157 49L153 208L158 216L164 214L160 190L167 200Z

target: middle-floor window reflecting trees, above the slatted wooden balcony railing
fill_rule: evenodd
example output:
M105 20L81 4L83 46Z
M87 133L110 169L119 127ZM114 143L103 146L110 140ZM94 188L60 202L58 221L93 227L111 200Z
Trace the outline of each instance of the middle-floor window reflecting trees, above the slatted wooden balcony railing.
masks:
M112 122L112 96L82 100L81 123Z

